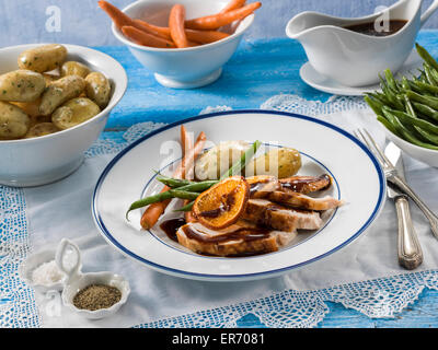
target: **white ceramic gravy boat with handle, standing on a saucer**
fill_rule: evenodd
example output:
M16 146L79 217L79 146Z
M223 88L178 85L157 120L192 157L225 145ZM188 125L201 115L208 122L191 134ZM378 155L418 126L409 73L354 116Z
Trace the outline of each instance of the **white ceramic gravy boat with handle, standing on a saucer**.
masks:
M388 8L389 20L407 23L389 36L365 35L344 26L369 23L382 12L358 19L341 19L318 12L302 12L289 21L286 34L304 47L312 67L346 86L364 86L379 81L385 69L396 72L412 51L420 27L438 9L438 0L422 15L423 0L401 0Z

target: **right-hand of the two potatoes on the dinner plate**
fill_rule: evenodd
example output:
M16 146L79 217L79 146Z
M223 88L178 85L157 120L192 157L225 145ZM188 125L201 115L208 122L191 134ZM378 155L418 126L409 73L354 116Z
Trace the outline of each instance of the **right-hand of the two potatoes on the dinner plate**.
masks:
M278 178L293 176L301 167L301 154L295 149L273 149L246 165L246 176L274 175Z

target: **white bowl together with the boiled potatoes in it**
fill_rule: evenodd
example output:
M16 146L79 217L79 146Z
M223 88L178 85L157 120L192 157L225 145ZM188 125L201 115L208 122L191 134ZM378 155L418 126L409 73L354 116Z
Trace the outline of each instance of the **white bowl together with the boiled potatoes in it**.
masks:
M73 173L128 79L112 57L76 45L0 49L0 184L39 186Z

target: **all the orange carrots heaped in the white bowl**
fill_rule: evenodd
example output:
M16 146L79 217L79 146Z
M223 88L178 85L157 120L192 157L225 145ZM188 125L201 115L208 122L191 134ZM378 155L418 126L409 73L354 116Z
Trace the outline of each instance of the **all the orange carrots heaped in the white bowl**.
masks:
M136 44L159 48L186 48L210 44L227 38L230 34L219 30L254 13L262 3L231 0L219 13L185 20L185 8L175 4L169 16L169 27L150 24L143 19L131 19L107 1L99 5L112 19L115 26Z

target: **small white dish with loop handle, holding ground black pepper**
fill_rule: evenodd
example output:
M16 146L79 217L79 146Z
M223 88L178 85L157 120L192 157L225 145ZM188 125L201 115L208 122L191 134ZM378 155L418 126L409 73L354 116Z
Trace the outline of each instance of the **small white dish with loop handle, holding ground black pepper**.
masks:
M77 254L77 260L73 266L66 266L65 256L68 249L72 249ZM80 250L76 244L68 240L62 240L59 244L59 247L56 252L55 256L56 264L58 268L67 275L67 281L65 283L65 288L62 291L62 303L66 307L76 312L77 314L90 318L90 319L99 319L111 316L115 314L123 304L126 303L128 295L130 293L129 283L122 276L112 273L112 272L90 272L82 273L81 272L81 256ZM117 288L120 293L120 300L107 308L100 308L95 311L78 308L73 304L74 295L91 284L105 284L110 287Z

